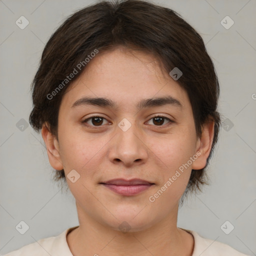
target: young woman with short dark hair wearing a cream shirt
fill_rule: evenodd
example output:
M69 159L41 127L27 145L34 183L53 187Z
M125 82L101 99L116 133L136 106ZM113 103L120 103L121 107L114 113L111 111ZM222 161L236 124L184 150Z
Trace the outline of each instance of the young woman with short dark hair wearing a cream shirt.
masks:
M79 226L6 255L245 255L177 227L217 142L219 85L201 36L145 1L102 1L48 40L30 124Z

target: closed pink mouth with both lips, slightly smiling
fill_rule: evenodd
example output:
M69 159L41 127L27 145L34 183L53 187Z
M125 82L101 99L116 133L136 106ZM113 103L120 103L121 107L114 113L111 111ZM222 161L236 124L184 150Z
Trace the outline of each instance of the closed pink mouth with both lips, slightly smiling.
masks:
M138 194L154 185L152 182L138 178L130 180L123 178L111 179L105 182L100 182L100 184L104 185L115 193L126 196Z

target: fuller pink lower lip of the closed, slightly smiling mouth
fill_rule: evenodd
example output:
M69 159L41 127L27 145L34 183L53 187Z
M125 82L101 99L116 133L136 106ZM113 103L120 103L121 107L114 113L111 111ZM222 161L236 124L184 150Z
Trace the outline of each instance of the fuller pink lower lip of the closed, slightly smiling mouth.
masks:
M121 195L135 195L153 184L140 184L140 185L114 185L114 184L103 184L107 188Z

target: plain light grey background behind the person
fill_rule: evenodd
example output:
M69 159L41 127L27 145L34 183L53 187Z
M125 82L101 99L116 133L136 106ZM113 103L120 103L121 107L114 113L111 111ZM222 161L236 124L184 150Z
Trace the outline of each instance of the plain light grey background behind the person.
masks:
M16 123L28 121L30 83L46 41L67 15L93 2L0 0L1 254L78 224L73 196L51 180L41 135ZM211 185L187 198L178 226L256 255L256 1L153 2L177 11L201 34L221 89L223 125L208 169ZM29 21L24 29L15 24L21 15ZM234 21L229 29L220 23L226 15ZM23 235L15 229L21 220L29 226ZM226 220L234 226L229 234L220 228Z

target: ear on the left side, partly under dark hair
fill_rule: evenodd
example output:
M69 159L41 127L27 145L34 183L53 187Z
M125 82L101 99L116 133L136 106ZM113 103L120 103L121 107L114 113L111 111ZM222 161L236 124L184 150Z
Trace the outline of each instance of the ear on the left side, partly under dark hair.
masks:
M44 123L41 129L42 138L47 148L50 165L56 170L62 170L63 165L59 154L59 145L56 137L49 131Z

